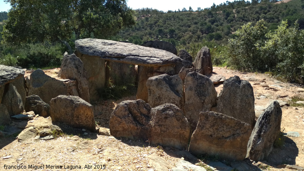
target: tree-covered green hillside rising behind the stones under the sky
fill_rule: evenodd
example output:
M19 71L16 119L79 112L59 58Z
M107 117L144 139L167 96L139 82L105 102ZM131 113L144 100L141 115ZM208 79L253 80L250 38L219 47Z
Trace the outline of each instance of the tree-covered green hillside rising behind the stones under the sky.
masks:
M213 4L206 9L183 8L178 11L162 12L156 9L137 9L137 24L122 30L114 40L128 40L142 44L151 39L167 40L174 45L215 40L226 44L242 25L264 19L268 30L275 30L282 20L292 26L299 20L304 28L304 1L287 3L276 0L253 0Z

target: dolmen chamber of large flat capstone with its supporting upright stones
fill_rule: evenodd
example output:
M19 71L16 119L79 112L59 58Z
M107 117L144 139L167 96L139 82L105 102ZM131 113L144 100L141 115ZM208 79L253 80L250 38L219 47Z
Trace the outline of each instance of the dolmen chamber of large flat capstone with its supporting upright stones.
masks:
M182 62L181 58L168 51L112 40L76 40L75 49L74 54L84 63L88 75L91 101L96 101L98 91L105 87L111 63L121 63L116 67L119 70L138 65L136 97L147 101L147 79L155 76L154 73L174 75L174 66Z

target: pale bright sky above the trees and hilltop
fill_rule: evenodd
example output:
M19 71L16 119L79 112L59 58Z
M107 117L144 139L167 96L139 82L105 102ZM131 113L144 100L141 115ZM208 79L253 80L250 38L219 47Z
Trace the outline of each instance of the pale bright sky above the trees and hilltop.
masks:
M208 8L215 3L219 5L220 3L226 2L224 0L213 0L213 1L199 1L199 0L127 0L127 4L132 9L138 8L153 8L158 9L164 12L168 10L178 10L183 9L184 7L188 10L189 6L192 7L193 10L196 10L198 7L202 9ZM0 11L7 11L10 9L10 5L5 3L3 0L0 0Z

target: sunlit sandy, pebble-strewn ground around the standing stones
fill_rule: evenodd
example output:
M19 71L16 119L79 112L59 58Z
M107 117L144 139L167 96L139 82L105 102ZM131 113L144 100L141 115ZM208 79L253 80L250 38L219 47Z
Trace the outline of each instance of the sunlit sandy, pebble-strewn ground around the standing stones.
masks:
M46 74L52 76L56 75L59 69L47 70ZM243 80L250 80L254 88L255 105L258 110L257 116L262 112L261 106L268 106L269 101L278 99L288 101L292 96L299 94L299 86L289 83L282 83L275 80L270 75L242 73L226 68L214 67L214 74L225 75L226 79L231 76L238 75ZM29 74L27 74L29 75ZM271 89L263 87L266 84ZM263 85L263 86L262 86ZM223 88L223 84L216 85L216 91L219 93ZM112 101L99 101L94 105L95 120L98 127L109 128L109 118L113 108L121 101L126 99L135 99L135 96L126 97L124 99ZM281 128L285 128L284 132L297 131L300 137L288 137L285 145L282 148L275 148L272 154L268 157L268 162L272 166L273 163L280 162L285 164L296 164L304 166L304 108L302 107L282 107L282 124ZM45 118L43 118L45 119ZM50 118L46 118L50 120ZM41 122L40 117L33 122ZM21 123L15 123L22 125ZM25 123L23 126L25 127ZM177 162L177 158L171 157L167 152L174 149L158 149L156 146L149 145L148 142L141 140L133 141L130 139L116 139L111 136L98 135L96 133L89 133L83 136L83 131L78 131L73 136L66 134L62 137L53 140L28 140L18 142L16 135L6 137L0 142L0 170L4 169L4 165L20 165L26 166L26 169L19 170L35 170L29 169L29 165L43 166L44 169L37 170L70 170L70 167L81 166L82 169L73 170L149 170L154 169L148 164L147 156L153 153L164 157L171 166ZM3 157L11 156L8 159ZM66 169L49 169L47 165L65 166ZM98 165L99 169L94 169L94 165ZM104 167L101 169L100 167ZM56 167L55 166L55 167ZM92 168L85 168L85 166L92 166ZM67 168L69 167L69 168ZM17 170L17 169L10 169ZM170 169L169 169L170 170ZM277 169L269 167L268 170L286 170L291 169Z

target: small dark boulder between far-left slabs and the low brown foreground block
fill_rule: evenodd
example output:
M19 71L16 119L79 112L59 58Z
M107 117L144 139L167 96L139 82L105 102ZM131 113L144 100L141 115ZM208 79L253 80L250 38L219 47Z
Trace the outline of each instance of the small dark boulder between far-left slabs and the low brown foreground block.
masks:
M47 117L50 115L50 105L36 95L26 97L25 111L34 111L35 115Z

